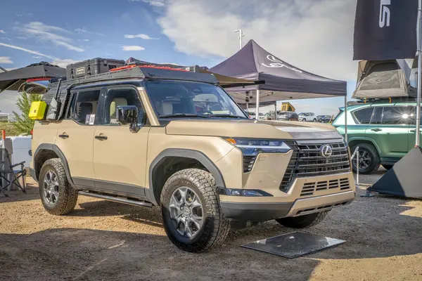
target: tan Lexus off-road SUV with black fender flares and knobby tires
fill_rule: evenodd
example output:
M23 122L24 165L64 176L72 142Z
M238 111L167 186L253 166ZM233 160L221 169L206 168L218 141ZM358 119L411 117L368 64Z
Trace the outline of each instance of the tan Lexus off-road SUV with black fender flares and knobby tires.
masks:
M303 228L354 199L332 126L251 120L210 74L130 67L57 88L44 95L58 93L56 117L36 122L32 139L50 214L68 214L78 194L157 205L177 247L204 251L231 222Z

